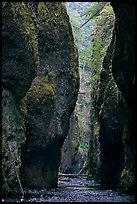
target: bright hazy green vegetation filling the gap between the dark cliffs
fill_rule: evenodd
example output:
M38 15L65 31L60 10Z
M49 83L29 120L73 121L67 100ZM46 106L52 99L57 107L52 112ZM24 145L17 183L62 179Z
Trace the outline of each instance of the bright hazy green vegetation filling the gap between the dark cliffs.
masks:
M76 7L76 4L73 4L70 5L72 9L68 12L79 52L81 95L79 94L77 110L82 147L88 142L91 132L95 140L98 140L99 127L95 115L95 104L100 80L99 73L111 41L114 22L113 9L108 2L94 2L89 5L85 11L84 9L81 11L80 5ZM92 16L94 17L91 18ZM90 18L91 20L84 24ZM92 127L89 120L93 123Z

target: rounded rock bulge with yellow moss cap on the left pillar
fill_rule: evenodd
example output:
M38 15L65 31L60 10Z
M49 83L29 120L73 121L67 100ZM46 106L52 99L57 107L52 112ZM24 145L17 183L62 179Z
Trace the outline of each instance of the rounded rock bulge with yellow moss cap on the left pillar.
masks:
M26 95L26 147L37 149L47 135L55 110L55 86L48 77L37 76Z

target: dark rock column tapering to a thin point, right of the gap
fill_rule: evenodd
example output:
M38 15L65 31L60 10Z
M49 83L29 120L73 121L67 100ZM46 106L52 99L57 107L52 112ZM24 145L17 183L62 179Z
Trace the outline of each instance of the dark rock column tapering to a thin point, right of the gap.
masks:
M100 72L98 97L100 166L102 188L117 188L124 164L122 135L125 123L125 103L112 76L111 62L115 38L112 36Z

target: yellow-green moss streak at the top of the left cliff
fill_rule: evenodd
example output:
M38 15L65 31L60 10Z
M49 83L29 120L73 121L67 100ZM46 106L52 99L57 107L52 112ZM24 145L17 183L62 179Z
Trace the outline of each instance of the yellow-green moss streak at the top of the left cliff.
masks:
M38 64L38 40L37 40L37 27L35 23L37 18L35 13L30 10L29 3L27 2L14 2L11 3L14 20L19 26L22 34L28 42L28 48L34 53L34 58Z

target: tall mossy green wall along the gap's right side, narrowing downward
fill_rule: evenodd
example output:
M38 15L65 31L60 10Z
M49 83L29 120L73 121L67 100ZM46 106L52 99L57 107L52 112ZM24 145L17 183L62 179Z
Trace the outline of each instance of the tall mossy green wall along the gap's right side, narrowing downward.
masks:
M99 12L98 12L99 11ZM100 70L102 68L103 59L106 55L108 45L112 38L112 28L114 22L114 13L109 3L104 2L93 3L92 6L82 14L85 17L85 21L89 18L88 22L93 25L91 32L91 51L88 49L84 50L84 58L86 59L85 64L87 69L90 71L90 94L91 94L91 109L90 109L90 141L88 149L88 160L87 160L87 172L92 178L98 179L99 171L99 122L97 117L97 98L99 94L100 85ZM84 29L86 24L80 29ZM82 57L81 57L82 58ZM111 67L110 67L111 69ZM86 80L86 79L85 79ZM81 119L82 120L82 119ZM83 118L84 121L84 118Z

